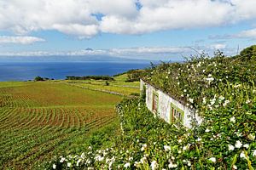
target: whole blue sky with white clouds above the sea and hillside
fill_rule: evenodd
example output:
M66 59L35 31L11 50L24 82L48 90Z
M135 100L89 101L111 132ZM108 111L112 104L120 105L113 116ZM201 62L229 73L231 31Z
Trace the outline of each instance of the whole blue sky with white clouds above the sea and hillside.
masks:
M0 0L0 55L236 54L255 43L254 7L254 0Z

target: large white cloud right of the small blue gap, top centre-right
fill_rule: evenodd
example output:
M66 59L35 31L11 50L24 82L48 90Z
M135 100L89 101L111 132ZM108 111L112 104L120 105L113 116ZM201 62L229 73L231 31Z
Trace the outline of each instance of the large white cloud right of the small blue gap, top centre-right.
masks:
M158 4L157 4L158 3ZM232 6L210 0L169 0L161 3L143 1L136 19L107 15L101 22L102 31L122 34L220 26L228 23Z

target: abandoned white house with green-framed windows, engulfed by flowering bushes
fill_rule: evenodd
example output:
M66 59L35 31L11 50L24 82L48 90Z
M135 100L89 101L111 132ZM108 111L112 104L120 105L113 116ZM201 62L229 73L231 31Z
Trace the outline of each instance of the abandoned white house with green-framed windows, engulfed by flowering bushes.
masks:
M146 93L146 105L149 111L155 116L159 116L166 122L174 123L177 127L183 126L191 128L191 122L201 124L202 119L189 108L185 102L174 99L171 94L166 94L160 88L155 87L150 82L143 79L140 81L140 89Z

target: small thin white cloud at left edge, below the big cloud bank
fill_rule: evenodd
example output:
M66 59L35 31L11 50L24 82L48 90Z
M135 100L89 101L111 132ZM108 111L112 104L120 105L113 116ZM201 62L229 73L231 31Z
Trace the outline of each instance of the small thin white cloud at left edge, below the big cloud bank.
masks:
M33 42L44 42L45 40L39 37L12 37L12 36L0 36L0 43L20 43L20 44L32 44Z

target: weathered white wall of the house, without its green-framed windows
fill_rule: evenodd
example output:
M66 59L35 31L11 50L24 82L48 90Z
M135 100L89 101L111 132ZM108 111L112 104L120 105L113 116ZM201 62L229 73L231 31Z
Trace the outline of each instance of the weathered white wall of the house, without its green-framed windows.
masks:
M166 122L171 122L171 103L176 105L179 109L184 111L183 115L183 126L185 127L191 127L190 123L192 118L195 118L195 120L198 122L198 124L201 124L201 117L195 114L195 111L189 109L186 105L183 105L176 99L173 99L170 95L165 94L160 89L156 89L147 82L144 82L141 80L141 90L143 90L143 86L146 87L146 105L148 107L149 111L152 111L153 108L153 95L158 94L159 95L159 102L158 102L158 116L160 118L164 119ZM152 111L153 112L153 111Z

